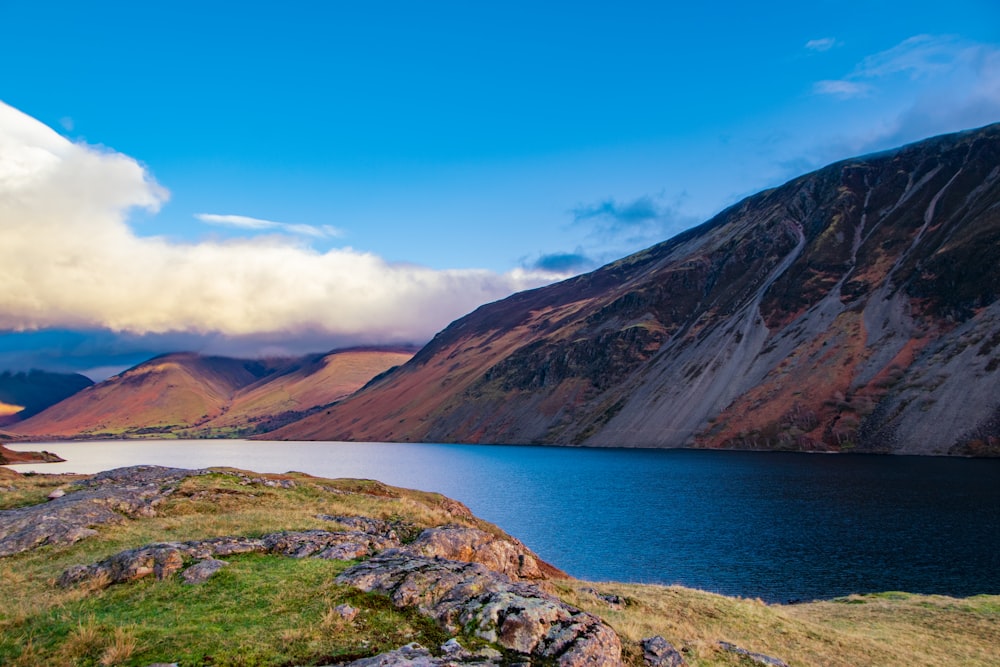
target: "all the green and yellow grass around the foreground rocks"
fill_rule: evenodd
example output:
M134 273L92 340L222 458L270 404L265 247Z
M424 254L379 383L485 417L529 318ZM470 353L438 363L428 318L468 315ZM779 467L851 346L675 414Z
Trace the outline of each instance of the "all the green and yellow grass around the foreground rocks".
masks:
M380 595L335 583L348 562L247 554L200 586L178 577L62 589L67 567L122 549L164 540L330 529L317 514L363 514L419 527L465 523L502 534L445 510L432 493L371 480L323 480L296 473L252 475L292 479L293 488L248 483L232 471L185 480L157 517L99 529L73 546L43 547L0 559L0 664L282 666L342 662L417 641L434 648L447 635L413 610ZM14 491L4 507L43 500L65 477L5 479ZM766 605L680 587L593 584L546 587L616 629L628 664L641 665L639 641L662 635L688 664L747 665L719 647L728 641L801 665L997 665L1000 596L956 599L888 592L798 605ZM586 591L622 596L612 606ZM347 621L334 608L360 610ZM464 645L476 645L468 637ZM482 642L478 642L481 644ZM742 662L741 662L742 661Z

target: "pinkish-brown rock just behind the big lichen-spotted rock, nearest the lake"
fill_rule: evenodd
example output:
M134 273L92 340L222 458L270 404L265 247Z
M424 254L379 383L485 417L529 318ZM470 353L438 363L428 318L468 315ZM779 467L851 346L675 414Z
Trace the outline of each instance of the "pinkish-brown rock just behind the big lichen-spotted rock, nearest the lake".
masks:
M549 566L549 572L543 571L539 565L541 559L513 538L503 539L478 528L455 524L428 528L407 549L431 558L481 563L514 580L548 579L555 570Z

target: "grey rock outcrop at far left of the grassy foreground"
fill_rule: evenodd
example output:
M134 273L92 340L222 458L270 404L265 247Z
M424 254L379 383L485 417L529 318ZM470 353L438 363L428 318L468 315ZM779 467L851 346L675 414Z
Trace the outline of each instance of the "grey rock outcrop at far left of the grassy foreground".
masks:
M161 466L118 468L82 480L42 505L0 511L0 557L46 544L73 544L96 534L94 526L127 517L155 516L187 477L205 470Z

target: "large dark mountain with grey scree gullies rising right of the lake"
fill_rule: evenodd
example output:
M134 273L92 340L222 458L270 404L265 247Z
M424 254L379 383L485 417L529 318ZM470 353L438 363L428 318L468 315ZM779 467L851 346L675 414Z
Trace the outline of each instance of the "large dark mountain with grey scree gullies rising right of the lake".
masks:
M1000 124L457 320L270 437L1000 453Z

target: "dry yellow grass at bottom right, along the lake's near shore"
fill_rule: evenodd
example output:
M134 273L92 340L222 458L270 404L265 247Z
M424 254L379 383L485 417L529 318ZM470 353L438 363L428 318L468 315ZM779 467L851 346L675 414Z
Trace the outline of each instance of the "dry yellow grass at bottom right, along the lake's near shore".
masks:
M582 589L626 598L613 608ZM632 646L661 635L691 665L739 665L726 641L793 666L891 667L1000 664L1000 596L967 599L870 595L797 605L767 605L677 586L556 584L567 601L605 619Z

